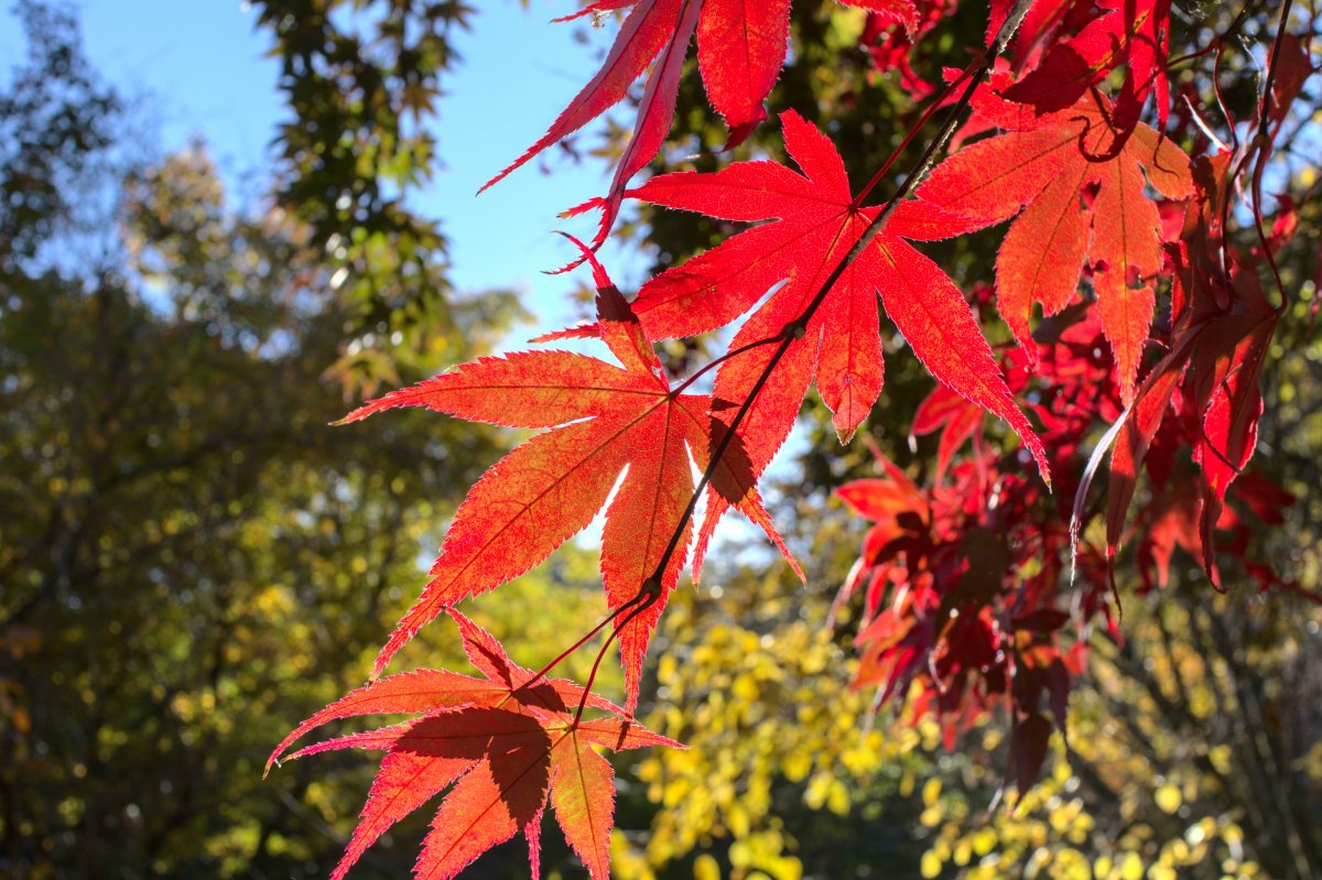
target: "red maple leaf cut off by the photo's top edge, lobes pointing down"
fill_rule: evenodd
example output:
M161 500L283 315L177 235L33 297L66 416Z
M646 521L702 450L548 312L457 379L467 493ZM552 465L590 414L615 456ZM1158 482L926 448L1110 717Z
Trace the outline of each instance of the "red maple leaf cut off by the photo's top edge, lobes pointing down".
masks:
M912 29L912 0L839 0ZM594 247L605 240L624 189L660 152L670 129L689 41L698 37L698 67L711 106L730 127L734 148L767 118L763 102L780 75L789 45L791 0L598 0L562 18L628 9L620 34L596 75L551 123L542 137L483 185L492 186L551 144L567 137L619 103L631 83L652 66L639 103L633 135L616 164L607 196L594 202L602 223ZM653 63L654 62L654 63Z

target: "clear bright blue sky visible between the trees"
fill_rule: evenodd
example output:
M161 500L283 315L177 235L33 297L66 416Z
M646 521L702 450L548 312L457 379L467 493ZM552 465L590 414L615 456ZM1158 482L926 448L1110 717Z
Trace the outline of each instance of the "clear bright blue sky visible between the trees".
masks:
M242 0L75 5L91 62L122 91L144 98L161 148L202 136L231 190L258 194L268 143L286 114L275 87L278 66L264 57L270 40L255 30L255 12ZM554 174L539 173L534 161L481 197L475 193L535 141L591 78L595 49L615 29L588 30L583 44L575 40L586 30L582 22L550 24L576 8L571 0L534 0L530 9L516 0L473 5L472 29L457 38L463 61L444 82L435 123L443 168L415 205L442 221L460 289L514 287L539 325L559 326L576 317L567 296L575 280L542 275L570 254L553 230L591 235L592 222L567 225L557 214L604 192L604 165L575 165L549 151ZM21 49L17 22L0 16L0 58L20 57ZM641 280L645 260L611 247L603 259L625 289Z

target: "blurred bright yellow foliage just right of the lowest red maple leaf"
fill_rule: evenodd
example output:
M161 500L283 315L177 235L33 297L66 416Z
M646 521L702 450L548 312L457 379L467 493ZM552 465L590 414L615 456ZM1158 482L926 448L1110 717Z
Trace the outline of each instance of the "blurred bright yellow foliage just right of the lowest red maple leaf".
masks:
M736 589L722 591L722 608ZM703 603L677 593L658 634L673 640L657 665L666 708L646 721L690 748L656 749L637 764L648 798L664 807L646 838L648 865L697 850L695 871L706 877L718 863L703 856L726 847L731 880L798 880L802 864L772 813L773 790L797 785L808 809L849 815L853 794L880 768L898 768L919 737L867 731L870 695L850 690L855 661L821 621L791 618L771 636ZM755 608L783 621L789 605L763 592ZM645 876L631 867L617 873Z

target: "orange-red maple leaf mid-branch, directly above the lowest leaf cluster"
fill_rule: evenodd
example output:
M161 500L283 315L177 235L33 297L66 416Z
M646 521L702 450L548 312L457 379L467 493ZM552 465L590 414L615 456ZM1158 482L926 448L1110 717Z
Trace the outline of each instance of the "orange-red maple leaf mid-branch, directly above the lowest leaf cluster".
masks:
M591 258L586 248L584 254ZM599 285L595 334L623 369L568 351L481 358L387 394L344 419L408 406L513 428L555 428L517 447L469 490L431 580L381 650L374 674L444 608L526 572L583 530L625 472L605 513L602 576L611 609L640 595L650 599L628 613L620 632L627 708L636 704L642 655L691 536L690 455L706 469L722 425L709 415L709 396L672 391L624 296L595 260L592 268ZM789 555L738 444L730 444L717 462L711 492ZM665 569L653 579L662 559Z

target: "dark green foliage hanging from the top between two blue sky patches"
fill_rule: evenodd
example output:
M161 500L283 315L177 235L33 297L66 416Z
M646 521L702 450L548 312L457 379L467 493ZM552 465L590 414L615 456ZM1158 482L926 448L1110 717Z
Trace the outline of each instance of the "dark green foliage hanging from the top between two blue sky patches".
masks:
M410 207L438 163L428 123L459 0L256 0L290 107L276 145L275 205L305 227L329 287L350 307L337 362L370 394L398 365L434 366L438 338L464 326L447 277L446 239ZM453 362L444 353L446 362Z

